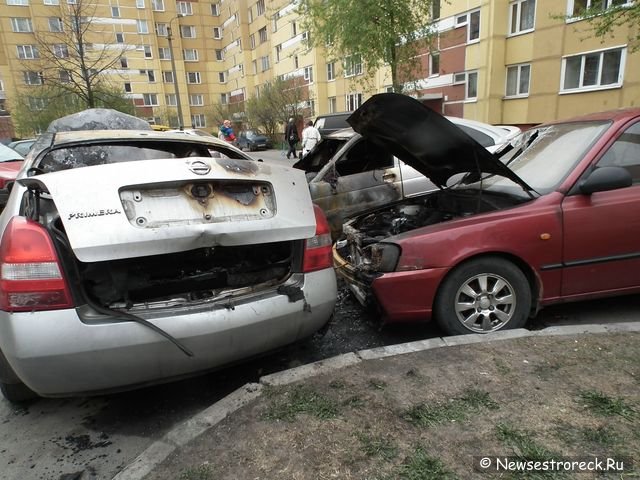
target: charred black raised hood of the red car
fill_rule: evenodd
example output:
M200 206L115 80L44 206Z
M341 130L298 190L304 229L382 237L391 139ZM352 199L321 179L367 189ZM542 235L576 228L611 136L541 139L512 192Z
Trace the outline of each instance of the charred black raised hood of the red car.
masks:
M527 191L532 190L455 124L406 95L374 95L347 122L360 135L411 165L440 188L453 175L472 172L501 175Z

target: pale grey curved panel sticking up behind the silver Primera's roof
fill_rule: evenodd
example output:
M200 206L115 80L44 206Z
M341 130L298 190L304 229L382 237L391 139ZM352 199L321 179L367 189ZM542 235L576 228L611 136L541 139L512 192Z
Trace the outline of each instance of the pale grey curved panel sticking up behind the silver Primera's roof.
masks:
M75 130L151 130L149 122L110 108L90 108L54 120L47 132Z

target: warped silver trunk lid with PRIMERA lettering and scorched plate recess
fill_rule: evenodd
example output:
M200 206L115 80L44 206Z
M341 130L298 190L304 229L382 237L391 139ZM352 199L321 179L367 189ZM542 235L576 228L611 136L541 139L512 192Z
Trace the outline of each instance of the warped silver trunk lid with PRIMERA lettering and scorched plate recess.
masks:
M19 182L51 196L83 262L288 241L315 233L304 173L254 161L142 160Z

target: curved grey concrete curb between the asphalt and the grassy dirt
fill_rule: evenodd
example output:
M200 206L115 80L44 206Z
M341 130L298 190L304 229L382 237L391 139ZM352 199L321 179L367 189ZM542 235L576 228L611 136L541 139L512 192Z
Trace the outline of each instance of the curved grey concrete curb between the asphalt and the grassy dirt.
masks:
M228 415L234 413L262 394L264 386L288 385L316 375L330 373L366 360L378 360L395 355L416 353L435 348L456 345L469 345L480 342L494 342L526 337L551 337L599 333L640 332L640 322L611 323L607 325L568 325L548 327L543 330L529 331L524 328L504 330L489 334L459 335L455 337L438 337L416 342L389 345L386 347L360 350L309 363L282 372L265 375L260 383L249 383L230 393L222 400L194 415L189 420L177 425L164 437L152 443L144 452L119 472L112 480L142 480L157 465L164 461L179 447L186 445L207 429L218 424Z

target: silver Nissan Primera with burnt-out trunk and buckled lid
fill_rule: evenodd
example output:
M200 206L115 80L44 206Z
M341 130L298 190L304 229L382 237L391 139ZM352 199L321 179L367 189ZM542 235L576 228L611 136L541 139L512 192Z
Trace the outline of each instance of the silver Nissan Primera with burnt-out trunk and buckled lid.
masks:
M214 137L44 134L0 233L11 401L211 370L312 335L336 301L304 173Z

